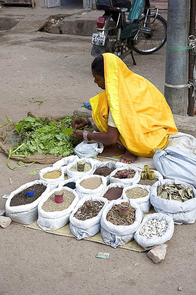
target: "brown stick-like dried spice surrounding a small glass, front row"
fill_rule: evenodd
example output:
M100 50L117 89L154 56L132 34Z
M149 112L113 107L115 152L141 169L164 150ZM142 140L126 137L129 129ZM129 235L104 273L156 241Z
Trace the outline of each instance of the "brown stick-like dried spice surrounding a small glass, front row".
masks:
M127 202L122 202L121 204L124 204L129 207L129 213L127 217L120 217L119 214L119 205L114 205L106 215L106 220L109 222L115 224L115 225L130 225L133 224L135 221L135 209L132 208Z

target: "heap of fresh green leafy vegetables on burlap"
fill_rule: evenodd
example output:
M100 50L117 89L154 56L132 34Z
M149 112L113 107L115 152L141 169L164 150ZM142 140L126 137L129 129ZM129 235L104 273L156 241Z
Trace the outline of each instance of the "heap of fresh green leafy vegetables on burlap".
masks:
M20 135L19 145L13 149L14 154L22 157L37 153L63 155L64 157L70 155L80 142L70 136L73 133L71 122L77 117L67 115L65 119L58 120L57 124L48 117L24 118L14 125L15 132ZM79 117L83 118L82 115ZM84 129L89 129L89 127Z

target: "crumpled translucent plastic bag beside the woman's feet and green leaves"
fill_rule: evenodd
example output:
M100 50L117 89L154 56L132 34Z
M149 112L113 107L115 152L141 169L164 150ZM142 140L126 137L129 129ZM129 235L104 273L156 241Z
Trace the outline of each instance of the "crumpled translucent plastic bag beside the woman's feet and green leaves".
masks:
M73 152L79 158L97 158L97 155L103 152L103 143L90 143L86 140L83 140L74 148Z

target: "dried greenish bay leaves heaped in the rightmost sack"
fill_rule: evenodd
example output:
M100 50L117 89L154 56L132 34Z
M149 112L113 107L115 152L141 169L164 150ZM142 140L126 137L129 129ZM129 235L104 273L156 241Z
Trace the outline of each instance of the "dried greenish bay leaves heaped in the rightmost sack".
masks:
M194 198L192 188L184 184L164 184L157 186L157 195L162 199L177 200L180 202Z

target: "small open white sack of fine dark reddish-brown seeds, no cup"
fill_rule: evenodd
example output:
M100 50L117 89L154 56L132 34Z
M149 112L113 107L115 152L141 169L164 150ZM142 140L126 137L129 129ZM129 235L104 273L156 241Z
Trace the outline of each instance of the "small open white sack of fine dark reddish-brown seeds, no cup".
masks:
M106 198L108 203L113 200L122 199L123 188L125 186L126 185L123 183L110 183L106 186L106 189L101 194L101 197Z

